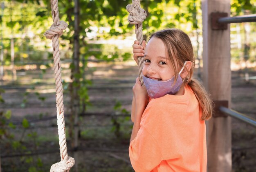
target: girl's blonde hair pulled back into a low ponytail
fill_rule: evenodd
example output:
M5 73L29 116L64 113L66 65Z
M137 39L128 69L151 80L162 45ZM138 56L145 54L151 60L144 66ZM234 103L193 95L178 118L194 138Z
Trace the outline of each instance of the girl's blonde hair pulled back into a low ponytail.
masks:
M193 46L189 36L180 29L165 29L157 31L150 36L161 39L167 49L168 56L171 60L172 67L175 72L175 81L178 77L178 68L176 66L183 66L184 62L191 61L191 69L185 67L189 71L189 75L184 80L184 85L189 85L193 90L195 97L198 99L199 106L202 110L202 120L211 118L213 111L213 103L202 84L196 79L192 79L193 68L195 66L195 57L193 54Z

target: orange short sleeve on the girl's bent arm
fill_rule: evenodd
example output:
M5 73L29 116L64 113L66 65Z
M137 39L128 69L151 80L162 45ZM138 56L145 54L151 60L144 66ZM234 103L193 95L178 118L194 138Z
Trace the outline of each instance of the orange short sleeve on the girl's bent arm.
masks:
M143 127L130 143L129 156L135 172L149 172L163 160L156 140Z

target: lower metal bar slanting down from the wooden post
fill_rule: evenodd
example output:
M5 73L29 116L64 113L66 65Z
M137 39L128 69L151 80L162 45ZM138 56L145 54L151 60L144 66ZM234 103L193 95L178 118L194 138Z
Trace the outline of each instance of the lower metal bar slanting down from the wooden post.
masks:
M231 116L231 117L234 117L236 119L239 119L240 121L243 121L247 124L250 124L254 127L256 127L256 120L247 116L247 115L244 115L242 113L239 113L239 112L236 112L235 110L231 110L229 108L225 108L223 106L220 106L219 110L221 112L224 112L225 114Z

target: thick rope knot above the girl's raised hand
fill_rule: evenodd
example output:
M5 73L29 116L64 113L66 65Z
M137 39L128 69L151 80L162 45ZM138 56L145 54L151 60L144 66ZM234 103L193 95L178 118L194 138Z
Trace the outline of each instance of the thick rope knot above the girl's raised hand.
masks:
M128 11L128 22L130 24L140 24L146 19L147 13L144 9L140 7L139 0L132 0L132 4L126 6Z

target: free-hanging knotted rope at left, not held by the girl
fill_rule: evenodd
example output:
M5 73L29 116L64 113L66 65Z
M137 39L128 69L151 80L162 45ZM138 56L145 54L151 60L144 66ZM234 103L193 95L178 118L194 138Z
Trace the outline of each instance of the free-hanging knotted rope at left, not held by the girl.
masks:
M58 16L58 0L51 0L52 3L52 19L54 24L45 32L45 36L52 40L53 59L54 59L54 77L56 85L56 108L57 108L57 124L58 139L61 152L61 161L51 166L50 172L68 172L74 165L74 158L67 155L67 142L65 133L64 120L64 104L63 104L63 87L61 79L61 60L58 38L63 34L63 30L67 28L67 23L60 21Z

